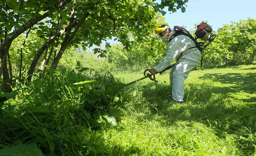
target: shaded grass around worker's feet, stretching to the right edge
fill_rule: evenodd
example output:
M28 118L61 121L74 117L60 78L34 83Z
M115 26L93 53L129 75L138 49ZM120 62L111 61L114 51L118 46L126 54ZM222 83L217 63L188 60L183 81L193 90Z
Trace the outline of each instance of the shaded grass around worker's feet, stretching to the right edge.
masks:
M156 109L152 108L152 113L165 116L164 126L177 120L197 121L214 129L219 138L234 135L238 148L244 155L255 153L256 98L239 98L234 101L231 94L255 93L256 73L205 74L200 79L231 84L231 87L187 83L184 105L171 101L172 89L168 84L149 86L143 92L143 97L150 104L154 103Z

